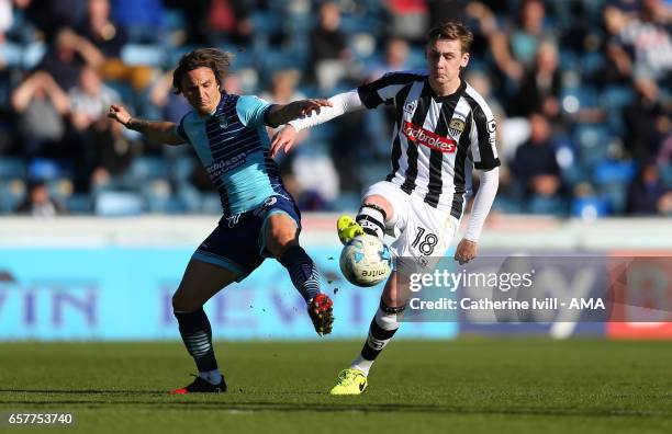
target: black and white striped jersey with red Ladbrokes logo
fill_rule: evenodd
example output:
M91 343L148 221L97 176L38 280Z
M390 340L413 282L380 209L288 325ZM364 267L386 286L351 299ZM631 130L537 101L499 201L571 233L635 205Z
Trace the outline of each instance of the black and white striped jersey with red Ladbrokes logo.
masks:
M394 104L388 181L459 219L473 167L500 165L495 119L483 98L463 80L437 96L424 71L390 72L357 92L368 108Z

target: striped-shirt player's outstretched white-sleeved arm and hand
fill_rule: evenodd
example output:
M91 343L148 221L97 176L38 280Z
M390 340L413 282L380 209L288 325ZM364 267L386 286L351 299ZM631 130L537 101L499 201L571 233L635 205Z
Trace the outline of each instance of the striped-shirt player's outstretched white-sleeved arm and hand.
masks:
M315 111L315 114L312 114L311 112L303 117L295 118L276 133L271 139L271 156L275 157L280 150L289 152L296 141L298 132L315 125L324 124L334 117L340 116L341 114L363 107L363 103L361 102L357 90L339 93L329 98L327 101L328 105Z

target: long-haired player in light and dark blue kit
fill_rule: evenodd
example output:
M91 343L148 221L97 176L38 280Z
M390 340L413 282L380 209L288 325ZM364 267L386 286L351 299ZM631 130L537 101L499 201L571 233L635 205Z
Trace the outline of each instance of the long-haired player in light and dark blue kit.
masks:
M320 292L315 263L299 245L300 213L270 157L265 128L318 113L331 103L302 100L280 105L225 93L222 82L229 65L231 55L216 48L182 56L172 85L193 110L179 124L138 119L121 105L110 106L108 114L155 141L193 146L222 198L224 216L193 253L172 296L180 334L199 369L192 384L173 393L226 391L203 305L245 278L265 258L272 256L287 267L317 333L332 331L332 300Z

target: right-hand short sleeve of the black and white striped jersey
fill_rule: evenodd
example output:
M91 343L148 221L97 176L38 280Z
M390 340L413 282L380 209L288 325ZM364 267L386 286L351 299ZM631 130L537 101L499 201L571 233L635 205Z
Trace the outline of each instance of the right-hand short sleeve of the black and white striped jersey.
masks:
M481 104L474 105L469 137L474 168L490 170L501 164L497 156L496 130L497 125L492 111Z

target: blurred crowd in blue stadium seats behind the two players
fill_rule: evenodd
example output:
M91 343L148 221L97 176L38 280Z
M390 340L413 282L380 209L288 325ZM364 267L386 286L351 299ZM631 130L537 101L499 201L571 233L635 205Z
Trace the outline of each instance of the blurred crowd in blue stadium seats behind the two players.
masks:
M220 213L192 150L105 117L178 122L171 68L235 54L225 90L285 103L424 66L424 35L474 33L463 78L489 102L495 212L672 215L670 0L0 0L0 214ZM306 132L279 162L304 210L358 206L390 168L392 113ZM269 134L272 130L269 129Z

